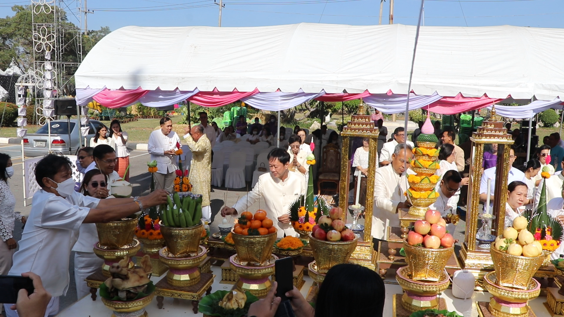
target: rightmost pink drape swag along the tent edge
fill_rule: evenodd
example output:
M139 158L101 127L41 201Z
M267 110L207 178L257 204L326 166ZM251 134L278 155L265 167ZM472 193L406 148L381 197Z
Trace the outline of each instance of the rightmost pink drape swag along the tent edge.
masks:
M429 107L423 107L423 109L440 113L441 115L456 115L457 113L481 109L501 100L488 98L486 95L481 97L464 97L462 94L457 94L455 97L443 97L431 103Z

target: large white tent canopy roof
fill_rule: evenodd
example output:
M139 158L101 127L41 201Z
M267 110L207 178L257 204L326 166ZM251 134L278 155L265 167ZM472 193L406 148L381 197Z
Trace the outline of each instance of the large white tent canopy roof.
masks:
M124 27L89 52L76 87L405 94L415 31L401 24ZM412 90L553 100L564 95L562 47L564 29L421 27Z

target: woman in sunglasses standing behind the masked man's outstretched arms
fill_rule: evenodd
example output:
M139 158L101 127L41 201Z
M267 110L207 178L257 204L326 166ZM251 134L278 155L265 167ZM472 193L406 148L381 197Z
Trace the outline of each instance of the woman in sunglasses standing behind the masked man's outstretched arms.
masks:
M108 197L108 189L106 188L108 180L99 169L93 169L86 172L80 192L84 196L92 196L100 199ZM103 259L94 254L92 245L98 242L98 231L96 224L83 223L80 225L78 240L74 244L72 250L74 253L74 283L76 284L76 294L78 299L90 293L84 281L89 275L93 274L98 268L102 267Z

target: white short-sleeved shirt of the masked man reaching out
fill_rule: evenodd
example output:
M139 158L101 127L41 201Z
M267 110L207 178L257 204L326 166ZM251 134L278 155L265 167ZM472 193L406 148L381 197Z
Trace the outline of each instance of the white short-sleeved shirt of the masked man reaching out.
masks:
M78 228L100 200L73 192L67 198L43 190L33 195L32 209L14 254L9 275L32 271L51 296L67 293L70 250ZM92 246L93 247L93 246Z

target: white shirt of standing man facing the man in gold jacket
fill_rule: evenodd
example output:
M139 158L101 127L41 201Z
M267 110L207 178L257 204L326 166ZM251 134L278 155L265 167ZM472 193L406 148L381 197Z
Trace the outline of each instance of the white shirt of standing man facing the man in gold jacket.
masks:
M177 143L180 143L180 138L174 131L170 131L168 135L164 135L161 129L151 132L148 151L151 153L151 161L157 161L157 173L168 174L178 169L177 158L164 154L171 149L177 150Z

